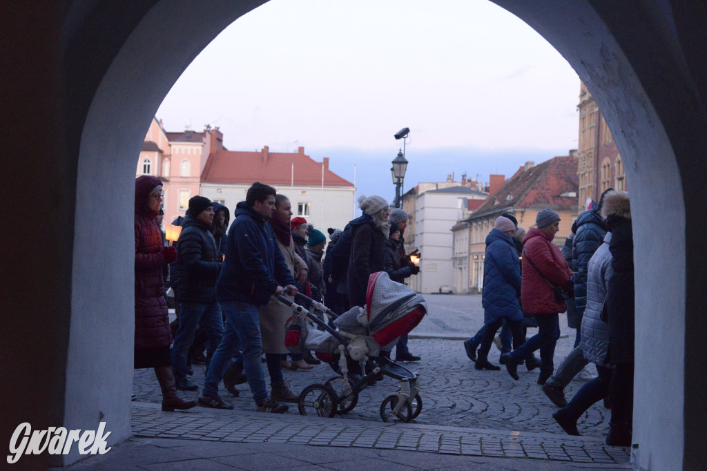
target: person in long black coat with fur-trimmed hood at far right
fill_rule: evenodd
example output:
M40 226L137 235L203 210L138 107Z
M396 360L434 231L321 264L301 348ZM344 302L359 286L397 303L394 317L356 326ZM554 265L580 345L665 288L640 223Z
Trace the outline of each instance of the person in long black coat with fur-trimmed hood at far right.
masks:
M633 344L635 337L635 286L633 281L633 227L631 202L625 192L609 192L602 214L612 240L614 274L609 280L605 310L609 322L609 363L614 366L609 397L612 418L607 445L630 446L633 424Z

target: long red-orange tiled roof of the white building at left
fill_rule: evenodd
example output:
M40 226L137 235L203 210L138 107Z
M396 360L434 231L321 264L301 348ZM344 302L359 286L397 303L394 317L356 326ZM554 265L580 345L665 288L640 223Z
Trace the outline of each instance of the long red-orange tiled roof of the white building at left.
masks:
M300 152L269 152L267 149L255 152L216 151L206 161L201 181L208 183L262 182L268 185L290 185L292 164L294 164L295 185L322 185L322 163L315 162ZM267 159L265 155L267 153ZM354 184L336 173L324 171L324 185L353 187Z

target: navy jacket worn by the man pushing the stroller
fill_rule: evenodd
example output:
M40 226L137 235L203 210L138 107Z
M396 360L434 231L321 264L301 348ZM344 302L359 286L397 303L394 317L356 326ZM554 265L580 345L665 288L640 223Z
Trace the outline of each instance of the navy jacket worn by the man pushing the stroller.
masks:
M245 201L236 205L233 216L216 299L264 306L278 285L294 286L295 280L270 223Z

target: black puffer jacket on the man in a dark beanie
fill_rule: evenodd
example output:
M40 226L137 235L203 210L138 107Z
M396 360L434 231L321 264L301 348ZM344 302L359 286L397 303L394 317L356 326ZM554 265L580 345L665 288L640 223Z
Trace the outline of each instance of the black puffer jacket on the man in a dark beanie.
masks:
M187 211L177 241L177 264L180 270L177 298L180 303L216 301L216 280L221 272L221 262L216 257L216 243L209 226L193 218Z

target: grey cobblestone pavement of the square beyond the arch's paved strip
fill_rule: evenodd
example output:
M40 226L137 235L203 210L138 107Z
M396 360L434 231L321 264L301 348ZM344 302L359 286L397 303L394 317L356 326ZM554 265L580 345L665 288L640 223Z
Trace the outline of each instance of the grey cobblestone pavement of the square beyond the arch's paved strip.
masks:
M563 434L561 428L552 419L551 414L556 408L537 385L537 370L528 372L524 367L519 366L520 380L514 381L505 368L501 371L477 371L474 369L474 364L467 359L462 339L473 335L483 324L481 296L426 295L425 297L429 313L412 332L409 341L411 352L421 356L422 360L418 363L407 364L409 368L421 375L420 395L423 409L413 424L406 426L487 429L501 433L506 437L509 436L509 431L512 434L557 434L556 438L563 443L570 439L576 439ZM528 335L530 336L534 332L537 330L531 329ZM564 315L561 315L561 332L562 337L558 342L555 354L555 366L558 366L571 350L575 335L575 331L566 326ZM498 350L491 347L489 360L498 364L498 356ZM264 371L267 371L264 365L263 367ZM593 368L592 371L594 371ZM295 392L299 392L310 384L324 383L333 375L331 368L326 364L315 366L310 371L284 371L285 379ZM203 377L204 366L194 366L192 381L202 385ZM568 400L581 385L583 385L582 381L574 380L566 388ZM252 401L250 391L247 390L247 385L240 385L239 388L240 397L233 397L221 385L221 396L227 402L231 402L237 411L254 412L255 403ZM328 420L337 423L346 421L350 424L347 424L347 427L354 428L361 427L361 421L378 422L380 426L385 426L380 419L380 404L387 395L396 390L395 381L385 378L363 390L359 396L358 405L349 414ZM161 400L158 383L154 373L150 370L135 371L133 391L140 402L158 403ZM199 391L180 392L182 397L190 399L196 399L198 394ZM210 409L201 407L194 410L212 412ZM133 426L137 433L138 430L143 429L136 428L135 413L134 409ZM230 414L234 413L230 412ZM192 417L192 415L188 414L187 417ZM296 405L291 405L287 415L299 417ZM171 416L168 414L168 417ZM302 419L306 420L310 417L302 417ZM193 421L194 419L184 420ZM618 453L617 456L623 456L627 460L626 450L602 446L608 429L608 421L609 411L604 409L601 403L598 403L580 418L578 429L583 438L593 439L592 446L601 448L604 450L603 453L613 453L613 455ZM373 424L367 426L373 426ZM477 438L474 440L476 440L474 443L481 444ZM532 457L527 453L527 450L524 453L525 456ZM506 456L512 457L513 454L506 454ZM537 458L541 458L541 456L538 455ZM544 458L551 458L551 455L546 453ZM616 463L616 460L612 462Z

